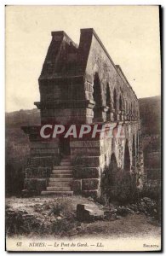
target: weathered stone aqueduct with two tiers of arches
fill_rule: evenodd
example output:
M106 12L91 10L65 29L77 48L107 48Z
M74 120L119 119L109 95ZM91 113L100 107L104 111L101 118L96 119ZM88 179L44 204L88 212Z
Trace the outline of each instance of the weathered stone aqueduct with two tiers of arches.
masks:
M53 166L70 154L73 193L100 196L100 177L112 158L123 172L135 172L142 186L139 103L121 67L115 65L93 29L82 29L80 43L65 32L52 32L52 40L39 77L41 124L112 123L124 138L91 138L43 142L37 126L22 129L29 135L31 154L26 166L25 190L47 193ZM46 193L45 193L46 191ZM48 191L49 192L49 191ZM52 191L53 192L53 191ZM56 195L56 193L54 193Z

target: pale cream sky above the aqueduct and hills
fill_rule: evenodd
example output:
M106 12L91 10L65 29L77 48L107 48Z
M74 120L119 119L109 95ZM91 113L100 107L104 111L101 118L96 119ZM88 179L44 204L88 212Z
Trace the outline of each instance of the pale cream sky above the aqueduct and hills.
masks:
M6 112L36 108L38 78L52 31L79 44L80 29L93 27L112 61L123 69L138 98L160 95L157 6L6 7Z

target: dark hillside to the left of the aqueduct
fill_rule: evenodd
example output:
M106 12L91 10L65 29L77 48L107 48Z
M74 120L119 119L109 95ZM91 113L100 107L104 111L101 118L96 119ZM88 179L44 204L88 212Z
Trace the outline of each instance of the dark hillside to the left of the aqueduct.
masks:
M40 112L38 109L31 109L5 113L5 120L6 193L20 195L23 189L23 171L29 154L29 140L20 126L40 124Z

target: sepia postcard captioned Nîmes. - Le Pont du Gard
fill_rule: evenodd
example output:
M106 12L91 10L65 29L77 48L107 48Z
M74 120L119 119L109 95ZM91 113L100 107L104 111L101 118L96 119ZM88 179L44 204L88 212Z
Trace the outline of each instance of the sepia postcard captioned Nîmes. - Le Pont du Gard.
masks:
M6 250L161 251L159 6L6 6Z

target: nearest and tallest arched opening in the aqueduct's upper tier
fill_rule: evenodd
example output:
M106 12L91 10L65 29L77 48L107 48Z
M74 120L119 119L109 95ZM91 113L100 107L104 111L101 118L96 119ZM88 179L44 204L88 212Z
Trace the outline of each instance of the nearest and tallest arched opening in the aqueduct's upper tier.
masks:
M94 121L100 121L102 118L102 97L101 97L101 88L100 88L100 79L98 73L94 75Z

